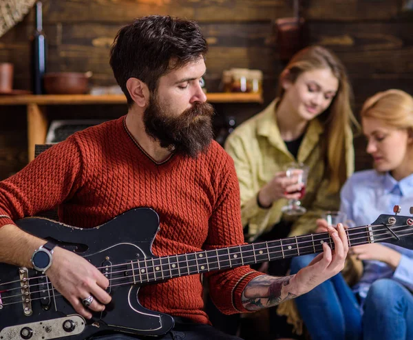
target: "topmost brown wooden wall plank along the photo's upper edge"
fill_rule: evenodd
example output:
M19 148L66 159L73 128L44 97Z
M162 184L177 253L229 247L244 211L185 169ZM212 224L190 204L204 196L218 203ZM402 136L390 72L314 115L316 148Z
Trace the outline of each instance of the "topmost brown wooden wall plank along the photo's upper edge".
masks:
M293 15L288 0L44 0L49 22L125 22L150 14L169 14L197 21L273 20ZM400 1L317 0L304 1L304 16L320 20L394 19L401 12ZM93 13L93 15L92 15ZM30 21L33 19L30 16Z

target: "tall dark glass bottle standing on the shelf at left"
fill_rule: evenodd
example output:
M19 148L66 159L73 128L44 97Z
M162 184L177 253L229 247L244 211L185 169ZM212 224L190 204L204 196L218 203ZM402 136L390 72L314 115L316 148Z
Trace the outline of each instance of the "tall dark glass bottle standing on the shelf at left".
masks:
M46 38L43 33L41 1L36 2L36 29L32 43L32 91L43 94L43 74L46 71Z

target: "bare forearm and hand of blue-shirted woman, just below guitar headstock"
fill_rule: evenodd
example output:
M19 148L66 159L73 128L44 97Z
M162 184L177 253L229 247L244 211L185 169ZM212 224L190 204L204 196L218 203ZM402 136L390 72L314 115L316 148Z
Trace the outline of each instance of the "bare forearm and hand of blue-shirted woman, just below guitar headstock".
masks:
M400 252L377 243L355 246L349 252L357 255L359 260L377 260L387 263L393 270L399 266L401 259Z

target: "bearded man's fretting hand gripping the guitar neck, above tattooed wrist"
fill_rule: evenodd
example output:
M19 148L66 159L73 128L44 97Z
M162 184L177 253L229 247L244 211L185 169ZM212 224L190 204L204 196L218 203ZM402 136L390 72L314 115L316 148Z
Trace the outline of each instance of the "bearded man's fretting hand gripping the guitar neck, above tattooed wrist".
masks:
M294 283L298 290L297 295L309 292L344 268L344 261L348 253L346 230L341 223L337 225L337 230L332 226L327 226L327 230L334 241L335 249L331 250L327 242L324 242L324 252L318 254L308 266L295 274Z

